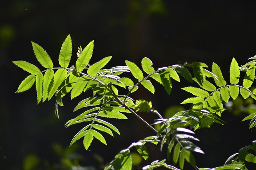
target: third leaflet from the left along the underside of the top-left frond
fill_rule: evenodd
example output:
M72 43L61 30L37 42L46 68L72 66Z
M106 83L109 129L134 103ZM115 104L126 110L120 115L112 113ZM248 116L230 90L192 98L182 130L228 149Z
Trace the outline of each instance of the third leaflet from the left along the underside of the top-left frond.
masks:
M44 73L44 80L43 80L43 102L48 98L48 94L53 85L53 78L54 78L54 71L47 70Z

